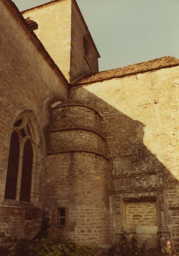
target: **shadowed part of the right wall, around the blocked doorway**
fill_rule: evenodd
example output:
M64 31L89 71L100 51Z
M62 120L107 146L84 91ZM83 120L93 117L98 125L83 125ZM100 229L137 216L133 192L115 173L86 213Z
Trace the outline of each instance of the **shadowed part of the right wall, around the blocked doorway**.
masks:
M144 127L84 87L72 87L69 100L90 106L103 117L110 180L110 217L113 242L125 229L136 229L149 248L179 245L178 180L143 143ZM162 150L162 148L161 148Z

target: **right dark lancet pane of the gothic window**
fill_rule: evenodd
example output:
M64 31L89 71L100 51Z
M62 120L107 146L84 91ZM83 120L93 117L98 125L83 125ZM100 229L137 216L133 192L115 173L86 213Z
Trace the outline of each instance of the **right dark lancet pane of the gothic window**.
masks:
M33 149L29 140L24 144L20 201L30 202Z

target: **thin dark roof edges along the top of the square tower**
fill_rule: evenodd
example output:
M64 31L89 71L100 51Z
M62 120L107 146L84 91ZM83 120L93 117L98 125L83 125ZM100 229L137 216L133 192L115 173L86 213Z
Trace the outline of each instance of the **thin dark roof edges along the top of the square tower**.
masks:
M43 7L43 6L45 6L45 5L53 4L53 3L56 3L56 2L59 2L59 1L61 1L61 0L53 0L53 1L50 1L50 2L47 2L47 3L44 3L44 4L40 4L40 5L34 6L34 7L32 7L32 8L29 8L29 9L27 9L27 10L24 10L24 11L22 11L21 13L23 14L23 13L25 13L25 12L27 12L27 11L31 11L31 10L33 10L33 9L35 9L35 8L40 8L40 7ZM98 52L98 49L96 48L95 42L94 42L94 40L93 40L93 38L92 38L92 35L91 35L91 33L89 32L88 26L87 26L87 24L86 24L86 22L85 22L85 20L84 20L84 18L83 18L83 15L81 14L80 8L79 8L79 6L78 6L76 0L72 0L72 1L73 1L73 3L75 4L75 6L76 6L76 8L77 8L77 11L78 11L79 14L80 14L80 17L81 17L81 19L82 19L82 21L83 21L83 23L84 23L84 26L86 27L86 29L87 29L87 31L88 31L88 33L89 33L89 37L90 37L91 40L92 40L92 43L93 43L93 45L94 45L94 47L95 47L95 50L96 50L96 52L98 53L98 57L100 58L100 54L99 54L99 52Z

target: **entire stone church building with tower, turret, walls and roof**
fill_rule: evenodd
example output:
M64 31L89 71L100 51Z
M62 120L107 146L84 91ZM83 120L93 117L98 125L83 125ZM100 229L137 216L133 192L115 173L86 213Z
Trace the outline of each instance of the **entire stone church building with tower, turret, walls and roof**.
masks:
M53 238L107 250L122 230L128 237L136 230L153 251L169 238L179 249L179 60L98 72L99 53L75 0L23 15L38 29L0 0L0 231L33 238L45 214ZM24 143L14 199L4 198L20 117L19 145L33 143L30 202L19 199Z

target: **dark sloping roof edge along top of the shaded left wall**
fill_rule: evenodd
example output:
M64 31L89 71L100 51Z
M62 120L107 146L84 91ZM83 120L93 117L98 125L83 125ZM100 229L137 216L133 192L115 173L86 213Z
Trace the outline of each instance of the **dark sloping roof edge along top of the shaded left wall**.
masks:
M56 72L58 73L58 75L60 75L61 79L64 80L66 86L69 88L69 83L66 80L65 76L63 75L63 73L61 72L61 70L58 68L57 64L54 62L54 60L52 59L52 57L50 57L50 54L47 52L47 50L45 49L45 47L43 46L43 44L41 43L41 41L38 39L37 35L35 35L34 31L28 26L26 20L24 19L24 17L22 16L22 14L20 13L20 11L18 10L18 7L16 7L16 5L14 4L14 2L12 2L12 0L5 0L5 2L8 3L8 5L11 7L11 10L18 16L18 18L20 19L20 21L23 23L23 25L26 27L26 29L28 30L28 33L31 35L31 37L34 39L35 43L37 44L37 46L39 47L39 49L41 50L41 52L45 55L45 57L49 60L50 64L53 66L53 68L56 70Z

